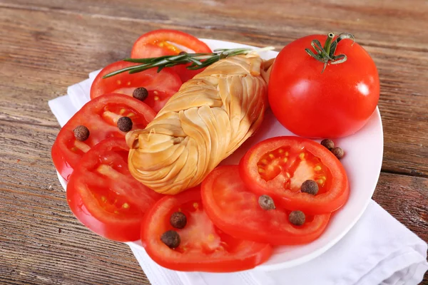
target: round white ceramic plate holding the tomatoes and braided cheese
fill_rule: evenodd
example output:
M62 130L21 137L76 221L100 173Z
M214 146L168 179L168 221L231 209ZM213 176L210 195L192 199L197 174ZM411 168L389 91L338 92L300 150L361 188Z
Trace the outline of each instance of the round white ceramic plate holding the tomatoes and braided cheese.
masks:
M202 41L207 43L213 50L215 48L255 48L228 41L211 39L202 39ZM275 58L277 52L264 51L260 53L260 56L265 59ZM89 92L89 90L86 91ZM272 113L267 111L263 127L258 133L245 142L233 155L224 160L222 164L238 164L240 157L243 156L251 145L260 140L279 135L293 134L282 127ZM260 269L265 271L283 269L318 257L344 237L365 211L377 185L382 166L383 131L379 109L376 108L369 122L362 130L347 138L335 140L335 143L346 152L341 162L347 171L350 182L350 198L347 204L332 215L330 224L319 239L305 245L277 247L272 257L264 264L258 266ZM58 178L65 189L66 181L60 175L58 175ZM141 247L140 243L133 245ZM141 249L144 250L143 247Z

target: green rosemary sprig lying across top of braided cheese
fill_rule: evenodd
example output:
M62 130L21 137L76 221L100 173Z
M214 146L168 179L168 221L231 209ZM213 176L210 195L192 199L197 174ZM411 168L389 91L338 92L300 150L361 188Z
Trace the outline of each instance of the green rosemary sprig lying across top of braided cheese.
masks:
M127 68L119 69L118 71L113 71L106 74L103 78L108 78L111 76L116 76L116 74L123 73L128 71L128 73L138 73L141 71L146 71L149 68L158 68L160 72L165 67L177 66L179 64L188 64L188 69L194 71L196 69L205 68L220 61L220 59L228 58L231 56L238 56L239 54L247 54L260 51L270 51L274 49L273 46L267 46L266 48L218 48L213 51L213 53L183 53L178 54L177 56L161 56L158 58L125 58L123 61L128 61L131 63L141 63L136 66L129 66Z

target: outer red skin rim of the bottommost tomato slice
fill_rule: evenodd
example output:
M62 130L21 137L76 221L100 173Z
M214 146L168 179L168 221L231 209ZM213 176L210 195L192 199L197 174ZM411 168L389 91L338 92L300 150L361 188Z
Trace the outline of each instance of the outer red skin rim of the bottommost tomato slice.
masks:
M272 247L269 244L258 244L253 254L241 257L240 259L230 258L222 260L217 257L211 260L200 260L186 257L163 257L165 249L159 249L156 244L151 244L150 242L151 234L153 234L150 230L150 225L153 225L151 217L159 210L167 210L170 204L183 204L200 199L200 187L195 187L185 192L180 192L178 195L163 197L148 211L141 226L141 242L153 261L156 261L157 264L165 268L177 271L233 272L251 269L270 257Z

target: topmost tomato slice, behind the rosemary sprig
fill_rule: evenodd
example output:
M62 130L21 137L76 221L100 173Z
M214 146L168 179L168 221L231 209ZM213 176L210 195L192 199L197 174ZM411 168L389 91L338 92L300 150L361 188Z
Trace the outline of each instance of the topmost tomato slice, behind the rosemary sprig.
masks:
M182 31L161 29L143 34L134 43L131 58L155 58L159 56L173 56L183 49L194 53L212 53L211 49L198 38ZM203 71L190 71L184 65L171 67L181 81L186 82Z

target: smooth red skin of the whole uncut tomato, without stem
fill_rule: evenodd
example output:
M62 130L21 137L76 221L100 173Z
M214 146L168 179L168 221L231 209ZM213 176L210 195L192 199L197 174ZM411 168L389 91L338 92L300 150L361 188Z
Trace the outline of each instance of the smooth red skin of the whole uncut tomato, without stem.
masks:
M379 100L379 76L369 53L352 40L337 44L335 55L347 61L329 64L312 58L305 48L327 36L292 41L277 56L269 81L269 103L277 120L296 135L340 138L360 130Z

